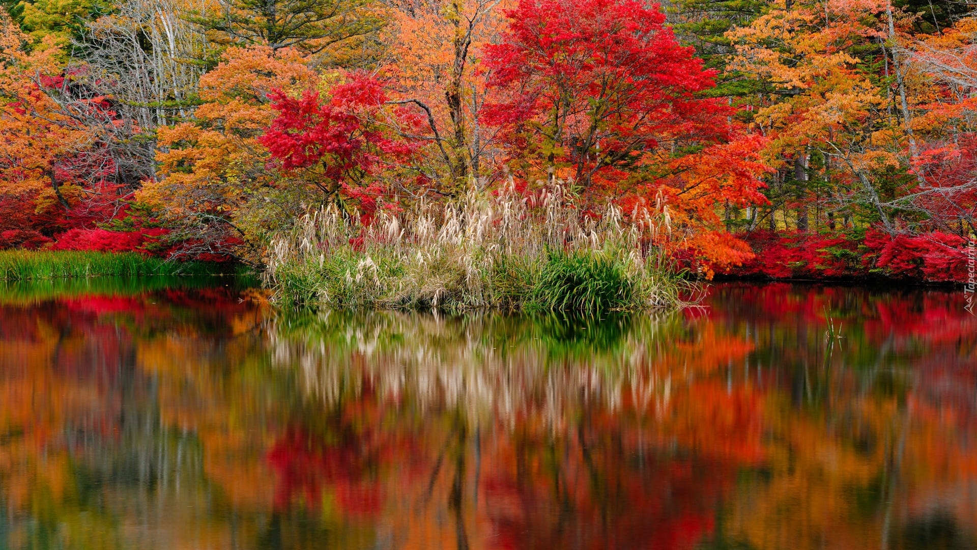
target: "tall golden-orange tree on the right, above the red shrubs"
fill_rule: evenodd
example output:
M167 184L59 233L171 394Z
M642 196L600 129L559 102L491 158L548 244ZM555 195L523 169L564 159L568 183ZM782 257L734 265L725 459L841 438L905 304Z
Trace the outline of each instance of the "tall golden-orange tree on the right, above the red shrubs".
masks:
M782 0L726 35L736 48L730 69L756 78L765 92L753 122L771 138L765 150L769 160L787 172L792 164L794 177L806 182L811 155L818 154L826 173L854 176L848 191L889 227L872 173L899 167L907 135L886 114L891 102L885 91L851 52L855 45L887 37L887 6L878 0ZM797 198L802 230L810 202L806 193Z

